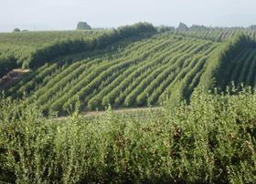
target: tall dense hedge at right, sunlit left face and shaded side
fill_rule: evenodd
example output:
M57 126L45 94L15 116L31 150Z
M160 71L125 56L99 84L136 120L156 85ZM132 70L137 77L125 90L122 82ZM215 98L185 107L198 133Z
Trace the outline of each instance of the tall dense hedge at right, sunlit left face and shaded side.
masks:
M231 76L231 68L237 65L237 62L234 62L236 61L236 56L240 54L240 51L251 47L255 47L255 42L245 35L236 36L221 44L208 59L208 66L201 77L199 86L206 89L212 89L213 87L221 87L223 89L227 83L231 82L229 77ZM243 75L246 74L243 72Z

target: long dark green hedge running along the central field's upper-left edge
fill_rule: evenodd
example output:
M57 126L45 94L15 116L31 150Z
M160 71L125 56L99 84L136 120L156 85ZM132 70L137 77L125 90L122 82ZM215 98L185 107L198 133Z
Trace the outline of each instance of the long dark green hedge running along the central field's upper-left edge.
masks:
M63 40L53 43L50 46L37 49L31 54L27 62L23 63L23 67L42 66L48 61L54 60L59 56L67 56L79 52L92 51L111 45L120 39L130 36L138 36L144 33L155 32L155 27L147 23L138 23L133 26L121 26L117 30L111 30L103 33L94 39L74 39Z

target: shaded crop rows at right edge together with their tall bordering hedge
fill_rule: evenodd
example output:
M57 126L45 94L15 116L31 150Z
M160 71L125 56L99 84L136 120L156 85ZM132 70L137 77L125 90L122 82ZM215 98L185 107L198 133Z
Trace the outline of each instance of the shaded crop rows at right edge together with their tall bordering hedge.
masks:
M209 65L199 86L225 89L231 82L255 87L256 42L250 36L240 35L219 46L209 58Z

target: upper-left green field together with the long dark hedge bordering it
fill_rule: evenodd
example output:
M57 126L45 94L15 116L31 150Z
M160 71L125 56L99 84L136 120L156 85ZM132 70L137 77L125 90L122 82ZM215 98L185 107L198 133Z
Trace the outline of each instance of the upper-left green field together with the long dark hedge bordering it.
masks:
M101 49L121 39L155 31L151 24L138 23L101 31L0 34L0 77L16 66L35 68L59 56Z

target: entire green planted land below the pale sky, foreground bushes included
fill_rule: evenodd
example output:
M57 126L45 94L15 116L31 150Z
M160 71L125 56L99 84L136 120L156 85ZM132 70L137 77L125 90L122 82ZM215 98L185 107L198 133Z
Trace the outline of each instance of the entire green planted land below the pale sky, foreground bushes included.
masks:
M256 32L163 30L0 34L0 183L255 183Z

